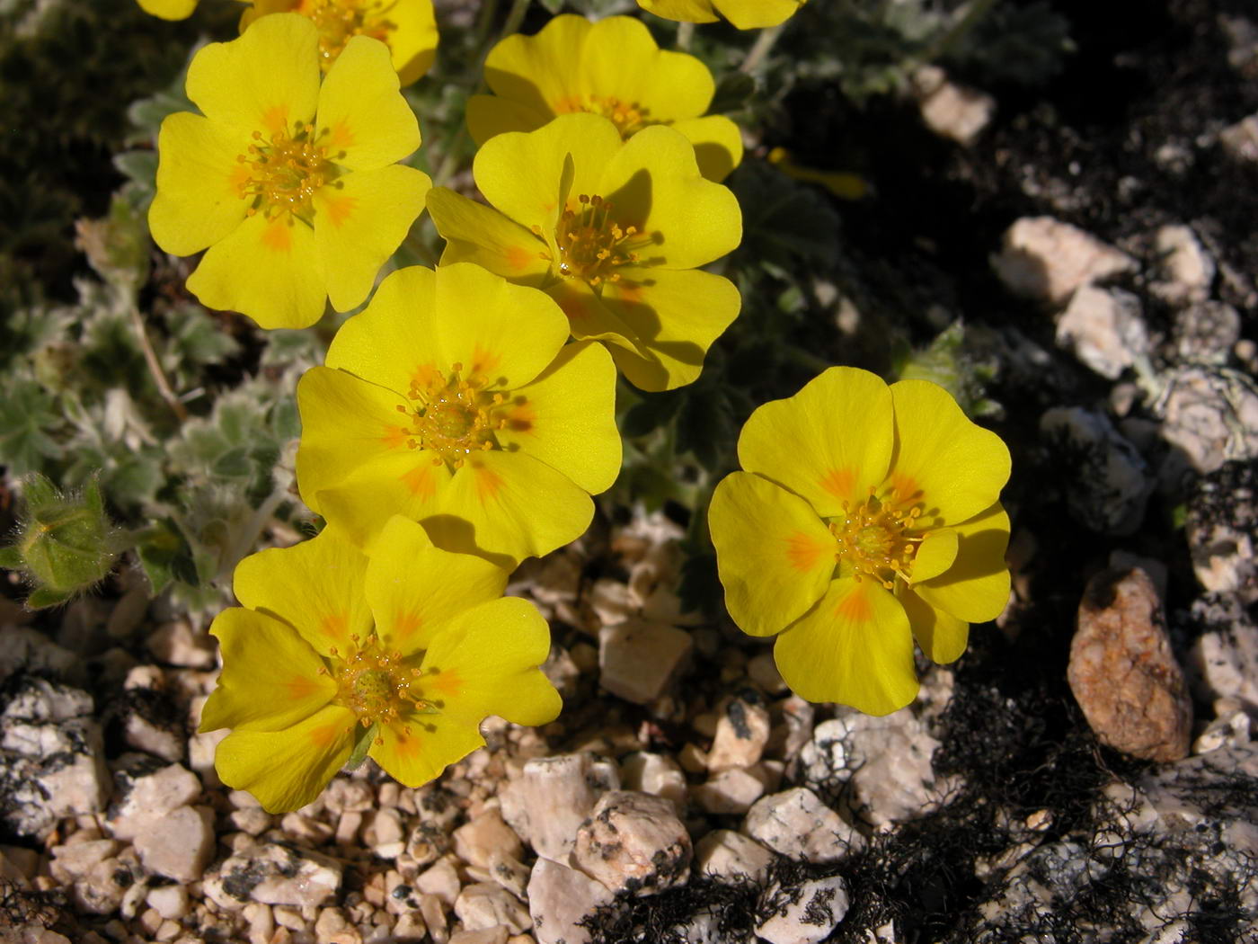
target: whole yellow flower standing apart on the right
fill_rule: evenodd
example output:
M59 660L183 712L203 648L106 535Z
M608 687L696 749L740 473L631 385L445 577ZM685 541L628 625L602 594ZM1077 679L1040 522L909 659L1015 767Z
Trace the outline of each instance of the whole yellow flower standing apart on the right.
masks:
M747 419L708 512L730 615L809 701L872 715L1009 598L1009 451L926 380L830 368Z

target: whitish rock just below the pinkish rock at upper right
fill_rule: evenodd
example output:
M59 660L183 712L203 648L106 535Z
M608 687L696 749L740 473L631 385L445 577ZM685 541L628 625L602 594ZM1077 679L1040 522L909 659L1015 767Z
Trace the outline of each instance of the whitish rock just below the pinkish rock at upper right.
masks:
M1081 286L1057 321L1057 344L1101 376L1117 380L1149 355L1140 298L1120 288Z

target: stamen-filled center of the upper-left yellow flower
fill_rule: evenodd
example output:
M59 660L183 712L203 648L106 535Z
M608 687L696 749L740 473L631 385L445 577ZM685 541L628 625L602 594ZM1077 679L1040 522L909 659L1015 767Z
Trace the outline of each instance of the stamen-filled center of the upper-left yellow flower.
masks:
M248 154L237 155L245 172L237 180L242 199L252 200L249 214L259 209L308 216L314 191L336 176L327 149L314 142L314 126L297 123L293 132L277 131L264 138L253 132Z

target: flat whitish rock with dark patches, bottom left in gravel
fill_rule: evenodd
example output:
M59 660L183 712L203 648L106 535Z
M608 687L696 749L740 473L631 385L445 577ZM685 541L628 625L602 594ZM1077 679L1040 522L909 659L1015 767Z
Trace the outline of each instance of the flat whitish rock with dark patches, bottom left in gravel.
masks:
M314 906L341 887L341 862L317 852L248 840L205 874L203 887L214 904L228 911L240 910L249 901Z

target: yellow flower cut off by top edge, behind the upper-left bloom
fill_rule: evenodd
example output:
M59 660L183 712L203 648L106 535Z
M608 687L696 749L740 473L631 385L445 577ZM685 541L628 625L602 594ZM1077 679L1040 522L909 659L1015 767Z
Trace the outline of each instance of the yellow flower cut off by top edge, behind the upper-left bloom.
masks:
M437 58L433 0L248 0L240 31L270 13L299 13L318 28L320 63L327 72L353 37L379 39L392 55L401 84L409 86Z

